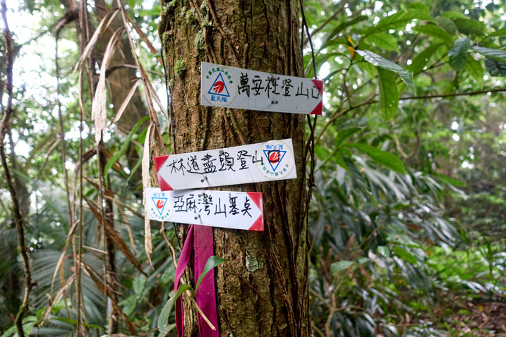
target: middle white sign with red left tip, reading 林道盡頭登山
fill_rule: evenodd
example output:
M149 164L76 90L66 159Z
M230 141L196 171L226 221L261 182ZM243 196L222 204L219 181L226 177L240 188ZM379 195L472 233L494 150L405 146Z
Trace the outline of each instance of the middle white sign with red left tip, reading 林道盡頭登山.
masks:
M153 161L162 191L297 178L291 139L155 157Z

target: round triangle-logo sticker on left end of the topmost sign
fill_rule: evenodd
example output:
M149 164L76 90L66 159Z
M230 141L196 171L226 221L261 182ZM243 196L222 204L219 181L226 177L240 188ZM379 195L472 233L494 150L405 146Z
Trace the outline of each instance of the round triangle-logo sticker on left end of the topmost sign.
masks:
M229 68L213 64L203 70L200 90L210 104L226 106L236 97L237 83Z

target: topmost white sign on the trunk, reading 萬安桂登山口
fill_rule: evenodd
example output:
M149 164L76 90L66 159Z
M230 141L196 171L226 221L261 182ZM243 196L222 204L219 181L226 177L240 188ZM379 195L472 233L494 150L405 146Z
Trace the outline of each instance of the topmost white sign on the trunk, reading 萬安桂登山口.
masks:
M200 63L200 104L322 114L323 81Z

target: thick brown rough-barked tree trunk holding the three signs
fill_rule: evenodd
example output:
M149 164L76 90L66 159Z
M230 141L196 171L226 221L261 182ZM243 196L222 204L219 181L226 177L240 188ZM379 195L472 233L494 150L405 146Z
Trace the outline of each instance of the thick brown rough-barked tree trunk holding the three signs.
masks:
M226 259L215 274L220 336L309 336L305 116L200 106L200 61L303 75L298 1L167 1L159 34L176 153L294 142L299 178L219 188L263 192L265 216L264 232L214 228ZM185 331L195 331L188 310Z

